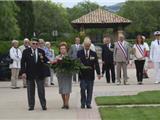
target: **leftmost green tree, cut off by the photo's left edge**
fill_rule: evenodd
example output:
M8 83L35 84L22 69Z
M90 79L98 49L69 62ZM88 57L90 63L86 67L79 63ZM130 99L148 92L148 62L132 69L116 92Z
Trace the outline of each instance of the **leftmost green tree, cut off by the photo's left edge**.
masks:
M0 40L19 37L16 15L18 7L13 1L0 1Z

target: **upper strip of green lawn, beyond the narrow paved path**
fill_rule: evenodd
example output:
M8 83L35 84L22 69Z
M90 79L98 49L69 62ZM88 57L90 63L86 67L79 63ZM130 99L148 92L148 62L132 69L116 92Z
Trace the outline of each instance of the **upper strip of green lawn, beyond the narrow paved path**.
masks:
M146 91L132 96L96 97L97 105L160 104L160 91Z

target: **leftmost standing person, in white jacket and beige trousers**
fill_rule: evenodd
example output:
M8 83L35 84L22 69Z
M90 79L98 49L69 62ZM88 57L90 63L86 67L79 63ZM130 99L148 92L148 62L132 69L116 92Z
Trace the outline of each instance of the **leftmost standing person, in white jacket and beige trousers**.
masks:
M20 49L18 48L19 42L17 40L12 41L12 47L9 51L10 58L13 60L13 63L9 65L9 68L11 69L11 88L12 89L18 89L17 81L19 76L19 71L21 68L21 58L22 53Z

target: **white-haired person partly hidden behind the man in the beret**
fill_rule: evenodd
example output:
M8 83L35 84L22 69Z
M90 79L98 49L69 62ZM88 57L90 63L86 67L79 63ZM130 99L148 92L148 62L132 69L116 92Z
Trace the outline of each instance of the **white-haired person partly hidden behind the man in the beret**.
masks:
M19 49L23 53L23 51L27 48L30 48L30 40L28 38L25 38L23 41L23 45L19 46ZM20 72L21 73L21 72ZM26 88L26 79L23 79L23 88Z

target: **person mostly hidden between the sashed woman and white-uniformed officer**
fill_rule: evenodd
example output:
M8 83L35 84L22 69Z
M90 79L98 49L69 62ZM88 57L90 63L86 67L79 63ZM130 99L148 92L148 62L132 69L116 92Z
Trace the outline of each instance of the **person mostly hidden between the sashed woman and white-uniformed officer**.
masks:
M148 73L147 73L147 71L148 71L148 60L149 60L149 45L148 45L147 42L145 42L145 39L146 39L145 36L142 36L142 39L144 41L143 44L144 44L144 47L146 49L146 52L145 52L145 55L144 55L145 63L144 63L144 70L143 70L143 78L149 78Z

